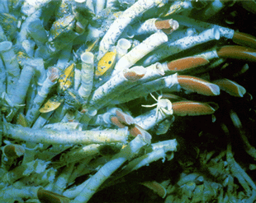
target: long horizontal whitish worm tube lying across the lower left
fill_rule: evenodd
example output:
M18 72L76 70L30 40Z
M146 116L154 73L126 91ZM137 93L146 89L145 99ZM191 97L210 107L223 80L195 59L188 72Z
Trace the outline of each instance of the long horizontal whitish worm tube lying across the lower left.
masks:
M106 142L126 143L129 132L127 128L103 131L55 131L51 129L31 129L6 123L6 136L17 140L45 143L51 145L61 144L92 144Z

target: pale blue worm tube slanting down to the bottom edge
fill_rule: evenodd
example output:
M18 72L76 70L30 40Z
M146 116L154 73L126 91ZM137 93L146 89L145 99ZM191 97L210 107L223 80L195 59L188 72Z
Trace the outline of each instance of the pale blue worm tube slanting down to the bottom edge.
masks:
M104 181L111 176L112 173L116 171L121 164L125 163L126 160L134 157L139 150L144 146L149 144L150 139L143 137L141 135L136 136L134 140L130 141L124 149L122 149L118 154L114 155L113 158L107 162L102 168L95 173L92 178L88 180L86 187L83 191L71 202L88 202L92 195L97 191L97 189L102 185Z

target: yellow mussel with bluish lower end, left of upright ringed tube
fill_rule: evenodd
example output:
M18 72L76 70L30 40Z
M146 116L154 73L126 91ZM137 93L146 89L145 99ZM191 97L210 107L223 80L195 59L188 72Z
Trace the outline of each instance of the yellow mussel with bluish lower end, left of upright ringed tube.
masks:
M67 90L73 84L73 63L59 76L59 89Z

